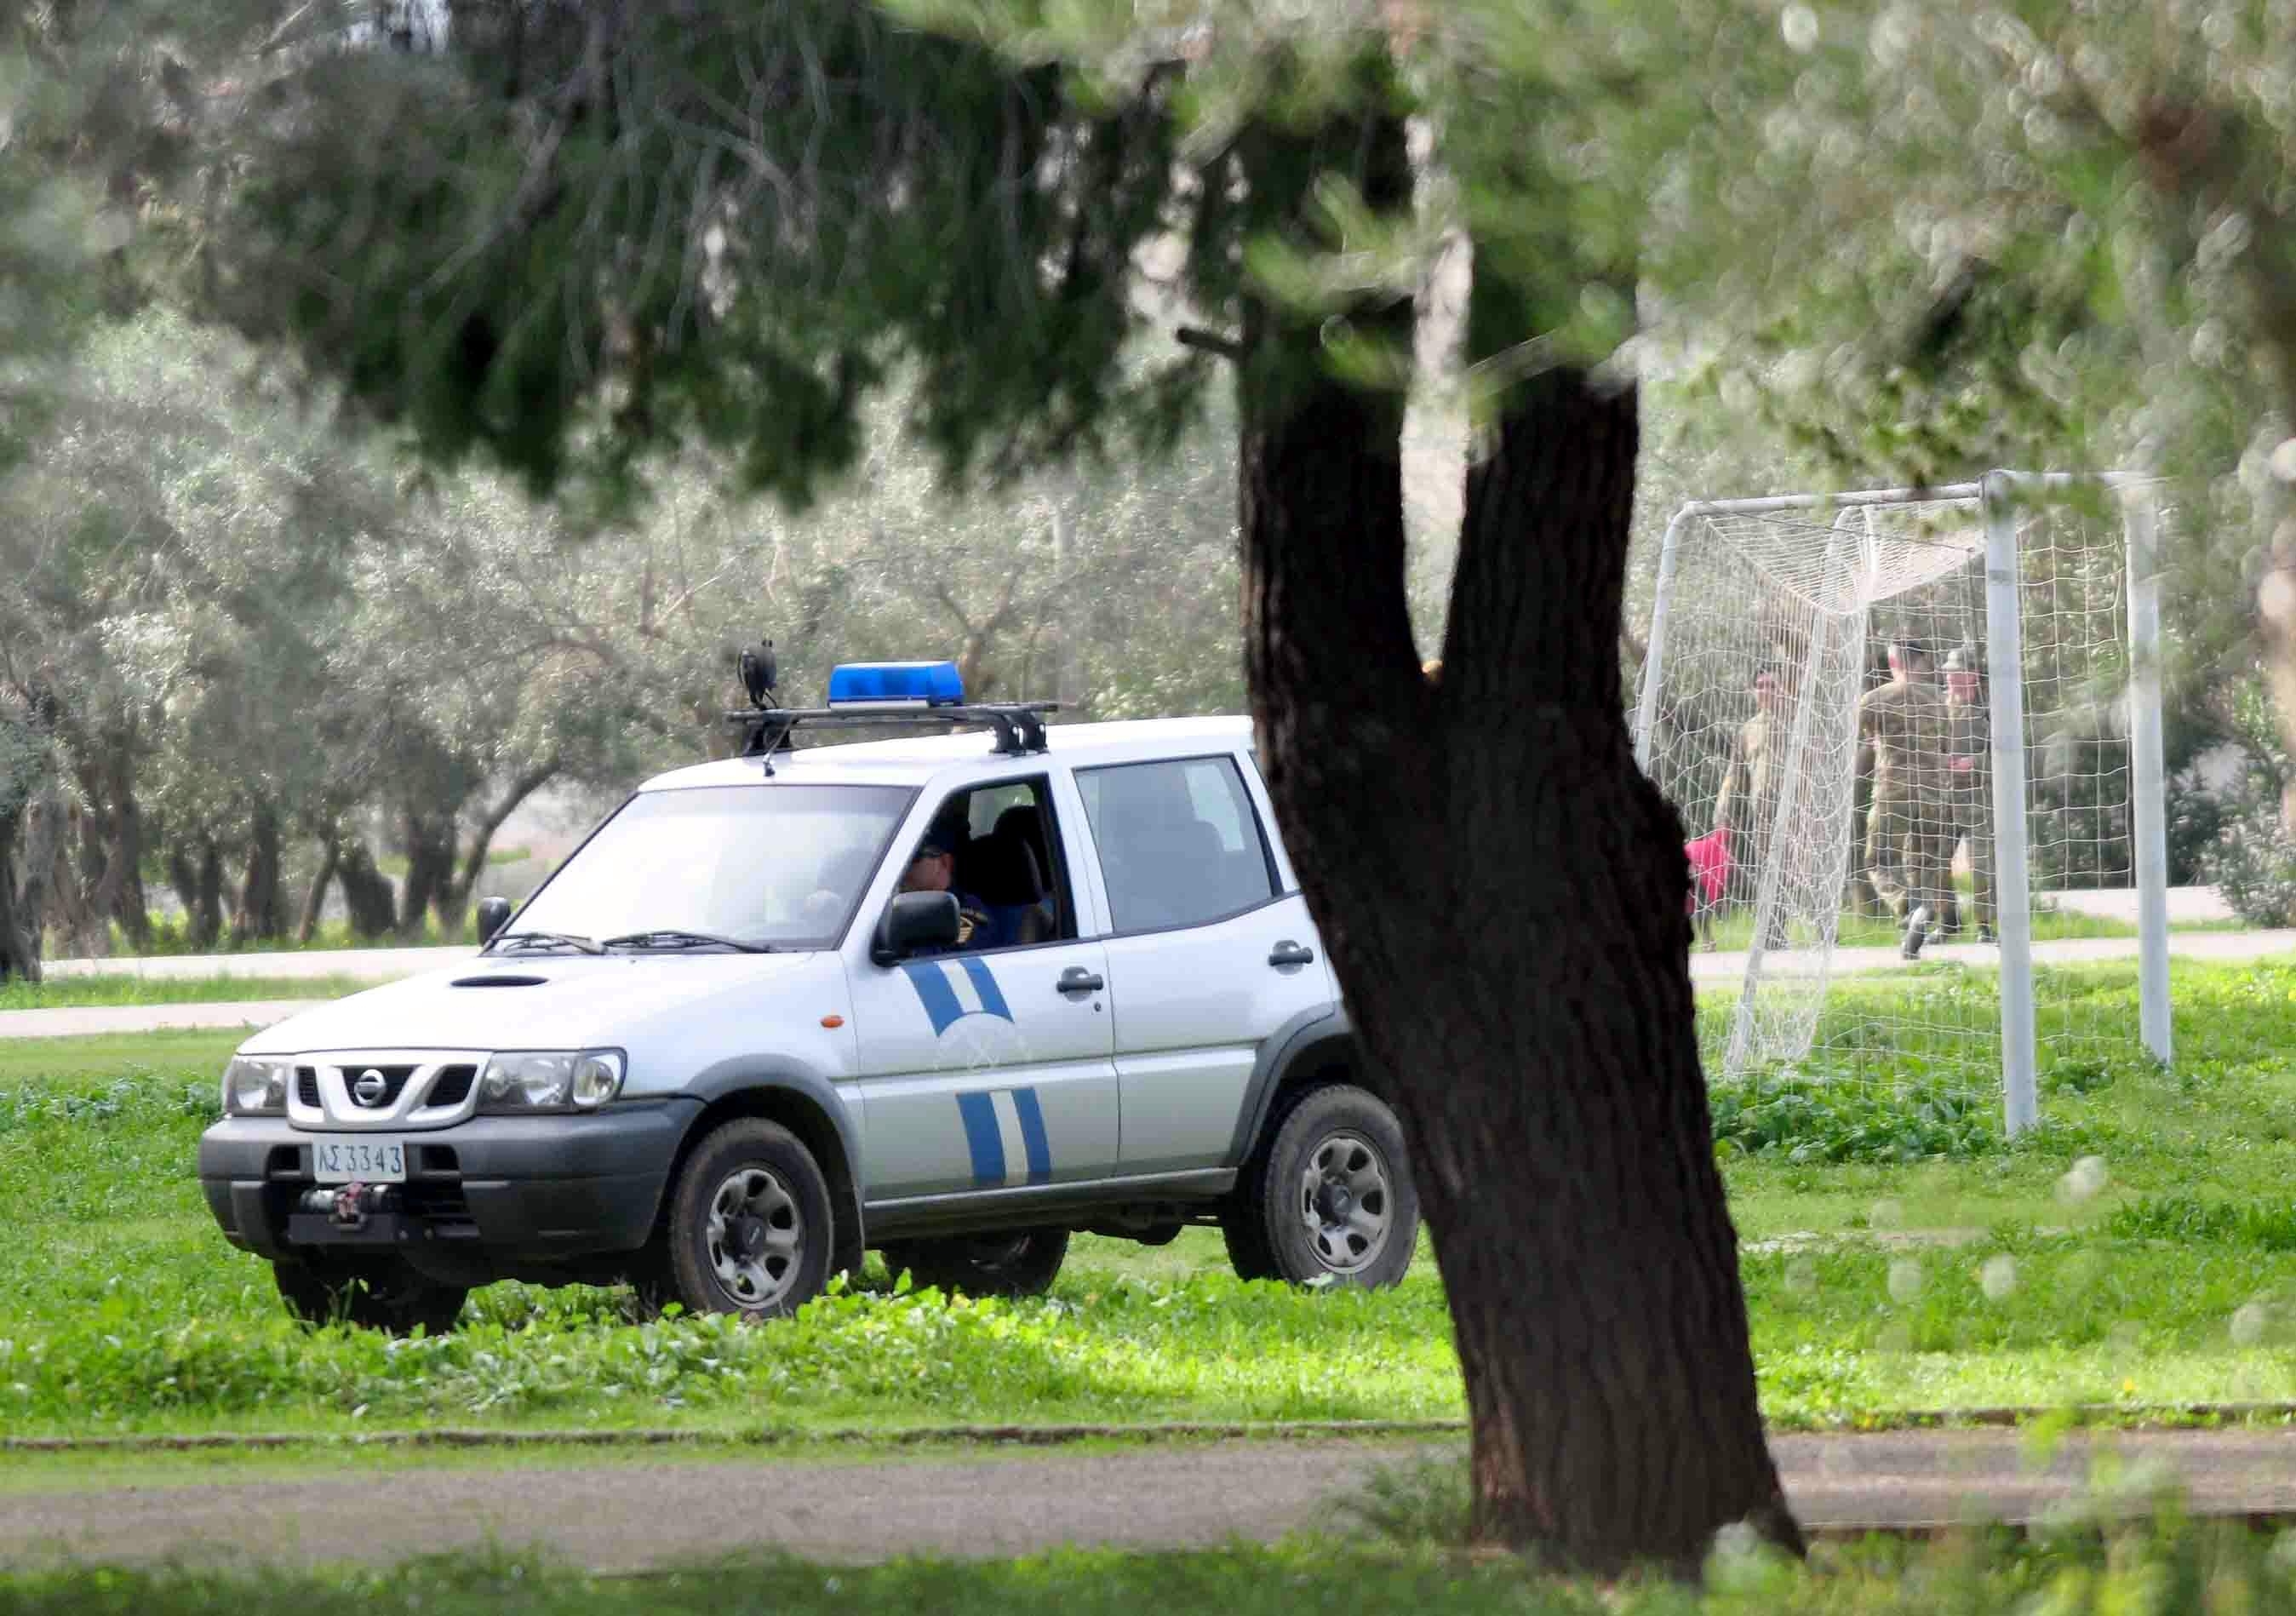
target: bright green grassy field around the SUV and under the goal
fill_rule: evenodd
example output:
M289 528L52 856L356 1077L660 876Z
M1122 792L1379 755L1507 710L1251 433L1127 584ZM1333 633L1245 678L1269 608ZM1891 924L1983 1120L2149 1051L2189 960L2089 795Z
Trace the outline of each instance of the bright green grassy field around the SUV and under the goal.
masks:
M2133 992L2128 971L2064 978L2085 1026ZM1945 987L1984 1019L1968 982L1922 973L1892 992L1910 1012ZM1880 992L1844 996L1841 1021L1871 1033ZM2179 969L2177 1010L2174 1072L2057 1049L2046 1125L2014 1145L1995 1100L1913 1067L1896 1083L1715 1090L1777 1425L2296 1398L2296 969ZM872 1265L771 1329L641 1327L613 1290L494 1285L441 1341L308 1334L269 1269L214 1233L191 1180L234 1042L0 1044L0 1428L1460 1414L1424 1253L1391 1292L1306 1295L1235 1281L1210 1230L1164 1249L1079 1240L1054 1292L1026 1304L893 1295ZM1862 1060L1871 1077L1871 1042Z

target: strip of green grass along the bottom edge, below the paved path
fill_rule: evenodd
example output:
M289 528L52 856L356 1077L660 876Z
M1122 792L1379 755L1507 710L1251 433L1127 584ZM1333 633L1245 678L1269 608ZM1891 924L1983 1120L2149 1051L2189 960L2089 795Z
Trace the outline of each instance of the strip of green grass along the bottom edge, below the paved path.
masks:
M898 1531L898 1522L889 1522ZM455 1554L395 1568L124 1570L0 1575L0 1616L2285 1616L2296 1609L2287 1540L2229 1522L2094 1526L2037 1538L1956 1533L1933 1545L1821 1545L1807 1563L1717 1549L1704 1588L1651 1575L1568 1579L1428 1540L1302 1536L1196 1552L1058 1549L1008 1561L905 1556L824 1566L726 1556L643 1577L597 1577L537 1554Z

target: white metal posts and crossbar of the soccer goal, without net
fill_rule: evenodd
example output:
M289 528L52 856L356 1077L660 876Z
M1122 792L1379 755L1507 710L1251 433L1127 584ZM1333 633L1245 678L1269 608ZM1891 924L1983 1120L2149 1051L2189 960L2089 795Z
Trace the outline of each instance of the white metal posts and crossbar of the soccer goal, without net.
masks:
M2144 473L2020 473L1993 471L1977 482L1926 489L1855 489L1841 494L1775 494L1761 498L1688 500L1667 521L1658 556L1658 590L1651 606L1651 629L1644 650L1642 691L1635 707L1635 760L1649 774L1651 741L1658 718L1660 682L1667 668L1667 627L1674 608L1674 581L1683 533L1699 519L1793 519L1807 521L1812 535L1839 535L1844 514L1864 510L1869 542L1871 512L1894 505L1952 507L1963 505L1984 526L1986 576L1986 698L1991 714L1991 783L1993 783L1993 856L2000 943L2002 1008L2002 1109L2011 1134L2039 1120L2037 1028L2032 985L2032 881L2027 872L2025 826L2025 677L2023 622L2018 608L2018 514L2046 505L2053 496L2080 489L2119 496L2124 565L2126 565L2126 643L2128 643L2128 746L2131 746L2131 852L2138 891L2138 1003L2140 1038L2156 1060L2170 1058L2167 999L2167 819L2163 803L2161 753L2161 578L2158 578L2158 505L2156 477ZM1805 526L1805 523L1795 523ZM1899 539L1901 544L1906 539ZM1975 560L1975 549L1958 551ZM1828 567L1835 553L1828 549ZM1793 595L1807 595L1793 581L1777 581ZM1818 601L1812 601L1818 604ZM1795 741L1789 748L1789 780L1800 764L1800 732L1807 709L1798 714ZM1752 1003L1756 971L1768 932L1770 884L1761 895L1754 948L1750 950L1745 1003ZM1743 1017L1736 1038L1743 1040Z

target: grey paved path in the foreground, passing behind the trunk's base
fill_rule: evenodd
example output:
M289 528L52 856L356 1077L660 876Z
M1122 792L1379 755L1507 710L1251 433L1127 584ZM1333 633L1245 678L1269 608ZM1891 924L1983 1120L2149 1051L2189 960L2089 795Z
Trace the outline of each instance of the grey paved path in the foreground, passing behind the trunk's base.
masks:
M2296 1510L2296 1432L2133 1432L2131 1460L2179 1474L2206 1513ZM2023 1437L1777 1437L1786 1494L1812 1526L1945 1526L1970 1510L2034 1520L2078 1494L2087 1451L2027 1474ZM397 1561L491 1538L597 1570L696 1563L742 1547L824 1561L893 1552L1003 1556L1058 1543L1217 1545L1348 1531L1380 1467L1442 1446L1224 1442L1130 1453L833 1460L661 1460L597 1467L404 1469L0 1494L0 1563L197 1559L225 1545L271 1563ZM643 1499L643 1506L638 1501Z

